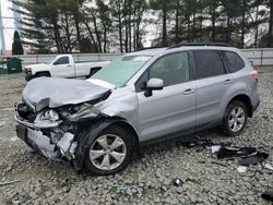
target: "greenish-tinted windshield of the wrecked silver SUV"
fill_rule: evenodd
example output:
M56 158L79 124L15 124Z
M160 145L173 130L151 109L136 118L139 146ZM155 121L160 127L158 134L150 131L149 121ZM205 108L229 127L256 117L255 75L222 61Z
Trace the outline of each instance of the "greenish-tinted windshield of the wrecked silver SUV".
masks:
M128 56L114 60L91 79L106 81L116 87L126 83L151 59L147 56Z

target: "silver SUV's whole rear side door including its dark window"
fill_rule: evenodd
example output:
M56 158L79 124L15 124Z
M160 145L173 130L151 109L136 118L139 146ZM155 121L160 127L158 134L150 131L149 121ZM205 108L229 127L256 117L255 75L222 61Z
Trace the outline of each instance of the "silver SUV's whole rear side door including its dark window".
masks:
M221 102L233 85L217 50L193 51L197 79L197 125L203 126L223 118Z

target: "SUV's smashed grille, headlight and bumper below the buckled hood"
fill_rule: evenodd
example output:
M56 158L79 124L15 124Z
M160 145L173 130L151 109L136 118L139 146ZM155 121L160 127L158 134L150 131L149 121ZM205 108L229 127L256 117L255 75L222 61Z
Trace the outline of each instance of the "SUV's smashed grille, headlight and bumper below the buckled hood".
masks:
M99 116L91 104L46 108L33 111L26 104L15 106L17 136L28 146L50 159L75 158L76 132L80 121Z

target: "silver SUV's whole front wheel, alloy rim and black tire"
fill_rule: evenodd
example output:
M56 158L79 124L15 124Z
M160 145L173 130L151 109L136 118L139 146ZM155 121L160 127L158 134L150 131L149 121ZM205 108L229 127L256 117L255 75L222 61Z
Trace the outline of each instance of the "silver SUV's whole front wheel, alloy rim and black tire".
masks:
M109 126L98 136L90 137L84 157L85 167L98 176L117 173L132 160L132 136L120 126Z

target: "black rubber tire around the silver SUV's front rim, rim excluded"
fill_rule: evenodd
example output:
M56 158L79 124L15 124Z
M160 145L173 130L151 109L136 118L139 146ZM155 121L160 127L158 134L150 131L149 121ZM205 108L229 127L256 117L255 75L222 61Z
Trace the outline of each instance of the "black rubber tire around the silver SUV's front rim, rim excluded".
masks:
M88 144L87 144L88 148L87 148L86 154L84 156L84 165L85 165L85 168L88 171L91 171L92 173L97 174L97 176L109 176L109 174L120 172L120 171L122 171L123 169L126 169L128 167L128 165L131 162L132 156L133 156L133 141L132 141L132 135L131 135L130 132L126 131L124 129L122 129L120 126L111 125L111 126L105 129L97 136L93 136L93 135L91 135L91 133L92 132L90 132L90 134L88 134L90 136L88 136L88 141L87 141L88 142ZM91 152L91 149L93 149L92 147L94 145L97 146L97 144L96 144L97 140L99 140L99 137L102 137L104 135L107 135L107 134L116 135L116 136L120 137L124 142L126 155L124 155L123 161L118 167L116 167L114 169L109 169L109 170L104 170L104 169L99 169L98 167L96 167L94 165L94 162L92 162L90 152ZM103 157L102 160L104 160L104 156L102 156L102 157ZM108 154L108 157L109 157L109 159L115 161L115 158L111 156L111 154Z

